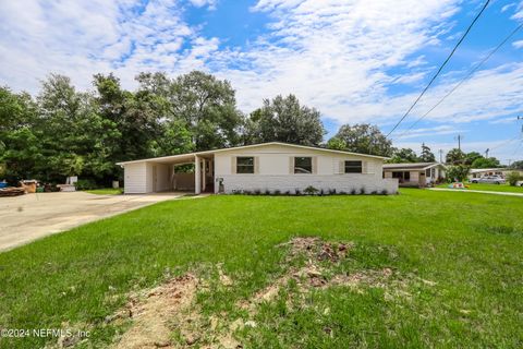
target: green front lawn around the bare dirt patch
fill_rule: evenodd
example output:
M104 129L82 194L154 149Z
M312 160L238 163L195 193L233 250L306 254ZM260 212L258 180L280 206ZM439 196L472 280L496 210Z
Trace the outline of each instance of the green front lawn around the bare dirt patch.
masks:
M192 270L206 280L204 318L255 322L234 332L246 348L521 348L522 217L521 197L414 189L163 202L1 253L0 328L73 326L90 330L77 347L105 347L129 326L104 321L126 294ZM239 308L289 269L277 245L296 236L353 242L337 273L388 268L392 280L305 294L290 281L254 314ZM219 263L233 287L214 281Z

